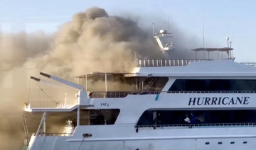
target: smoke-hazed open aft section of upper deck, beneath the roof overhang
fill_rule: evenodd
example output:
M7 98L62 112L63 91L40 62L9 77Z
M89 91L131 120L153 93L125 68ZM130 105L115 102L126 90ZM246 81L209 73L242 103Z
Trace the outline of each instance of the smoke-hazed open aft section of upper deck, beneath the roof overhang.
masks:
M169 80L161 76L125 76L125 74L87 74L78 76L87 91L161 91ZM95 86L97 84L97 86Z

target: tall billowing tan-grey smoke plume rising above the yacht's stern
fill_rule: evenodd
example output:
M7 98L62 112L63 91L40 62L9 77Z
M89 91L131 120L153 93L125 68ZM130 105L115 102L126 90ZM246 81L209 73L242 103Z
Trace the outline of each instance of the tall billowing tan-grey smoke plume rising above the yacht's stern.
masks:
M67 79L92 71L132 71L134 52L138 57L161 57L155 42L136 22L108 16L102 8L90 8L63 25L53 50L29 61Z

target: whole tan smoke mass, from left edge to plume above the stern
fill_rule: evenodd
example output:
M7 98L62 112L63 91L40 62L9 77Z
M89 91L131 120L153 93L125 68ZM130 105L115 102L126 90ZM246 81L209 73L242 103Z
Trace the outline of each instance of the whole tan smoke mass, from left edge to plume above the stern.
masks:
M38 98L33 92L35 97L28 99L29 76L44 71L72 81L93 71L130 72L135 54L162 57L151 32L130 18L109 16L96 7L75 14L54 35L1 34L0 42L0 149L6 150L21 146L23 103ZM63 96L61 92L50 94Z

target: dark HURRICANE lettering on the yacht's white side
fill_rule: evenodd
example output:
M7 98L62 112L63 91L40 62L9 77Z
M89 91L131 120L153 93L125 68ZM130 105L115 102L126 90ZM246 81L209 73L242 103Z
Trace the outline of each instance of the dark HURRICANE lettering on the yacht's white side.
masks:
M198 97L189 98L188 105L248 105L250 97Z

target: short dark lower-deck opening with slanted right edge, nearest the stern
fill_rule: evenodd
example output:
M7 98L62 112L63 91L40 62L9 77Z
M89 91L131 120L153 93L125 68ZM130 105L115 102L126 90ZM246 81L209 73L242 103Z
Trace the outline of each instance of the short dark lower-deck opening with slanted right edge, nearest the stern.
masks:
M80 125L114 125L119 109L88 110L80 109Z

